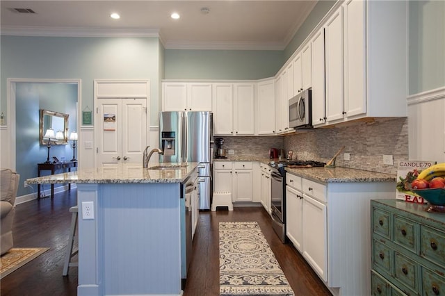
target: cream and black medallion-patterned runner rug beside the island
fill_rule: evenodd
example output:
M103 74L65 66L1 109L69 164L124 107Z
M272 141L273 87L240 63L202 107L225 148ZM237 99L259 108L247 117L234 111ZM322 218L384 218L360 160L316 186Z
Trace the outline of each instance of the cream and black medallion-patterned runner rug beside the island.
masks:
M220 295L294 295L257 222L220 222Z

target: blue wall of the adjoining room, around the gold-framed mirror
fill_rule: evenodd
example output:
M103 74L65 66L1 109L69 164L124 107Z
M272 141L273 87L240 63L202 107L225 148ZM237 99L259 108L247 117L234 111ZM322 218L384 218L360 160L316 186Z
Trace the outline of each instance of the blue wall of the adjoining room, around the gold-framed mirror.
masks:
M39 144L40 109L65 113L68 117L68 129L76 130L77 85L67 83L16 83L16 171L21 180L38 176L37 164L47 161L47 146ZM59 160L72 158L72 142L69 145L53 145L49 149L49 158ZM51 159L52 161L52 159ZM49 174L49 172L44 172ZM49 186L44 186L49 189ZM34 186L37 192L37 186ZM19 186L17 196L32 193L30 188Z

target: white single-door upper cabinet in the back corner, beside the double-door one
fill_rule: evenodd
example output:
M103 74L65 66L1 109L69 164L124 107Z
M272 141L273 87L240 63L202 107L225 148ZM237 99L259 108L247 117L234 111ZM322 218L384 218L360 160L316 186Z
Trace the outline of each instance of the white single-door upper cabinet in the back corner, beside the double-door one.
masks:
M265 79L257 84L257 133L275 134L275 80Z

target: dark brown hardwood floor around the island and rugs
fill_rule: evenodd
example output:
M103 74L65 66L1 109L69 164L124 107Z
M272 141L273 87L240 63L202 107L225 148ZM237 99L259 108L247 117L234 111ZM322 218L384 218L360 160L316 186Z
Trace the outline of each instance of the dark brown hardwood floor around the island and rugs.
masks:
M49 247L22 268L0 281L0 295L76 295L77 268L62 276L65 247L70 229L70 206L76 190L16 206L13 236L15 247ZM330 295L312 268L290 243L282 244L273 232L270 217L261 207L238 207L234 211L200 212L184 296L219 295L218 223L256 221L279 261L296 295Z

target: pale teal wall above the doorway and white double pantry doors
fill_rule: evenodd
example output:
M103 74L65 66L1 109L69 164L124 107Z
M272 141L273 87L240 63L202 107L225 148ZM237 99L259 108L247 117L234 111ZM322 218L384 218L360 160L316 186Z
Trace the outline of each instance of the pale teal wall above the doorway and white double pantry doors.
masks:
M149 79L150 122L156 125L159 44L159 38L143 37L1 36L1 110L6 113L6 78L81 79L82 110L93 106L94 79Z

